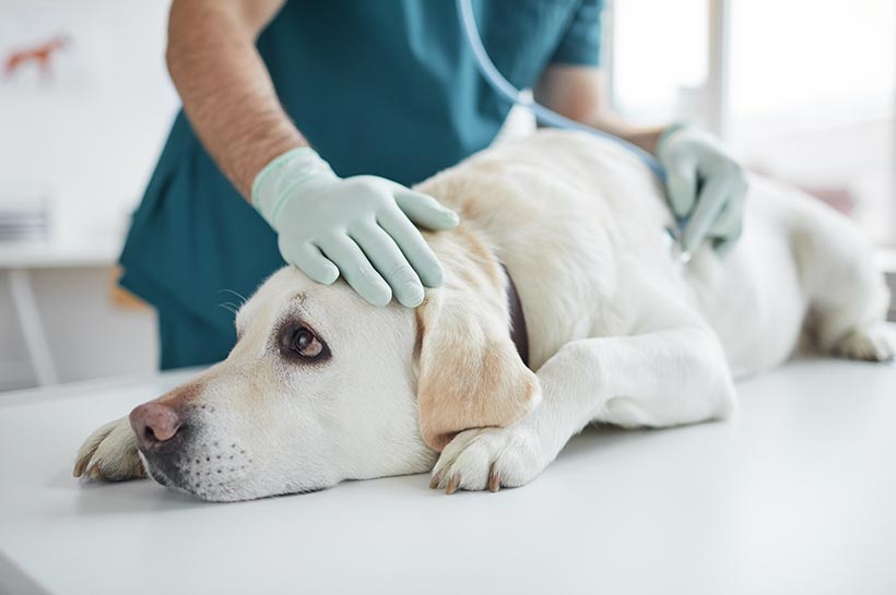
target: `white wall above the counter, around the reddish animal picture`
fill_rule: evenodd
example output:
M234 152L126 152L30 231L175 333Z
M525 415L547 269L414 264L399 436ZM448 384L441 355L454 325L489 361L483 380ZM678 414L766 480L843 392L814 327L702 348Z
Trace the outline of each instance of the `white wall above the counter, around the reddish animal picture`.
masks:
M48 189L64 235L120 234L177 108L166 1L5 0L0 56L69 38L43 74L0 73L0 191Z

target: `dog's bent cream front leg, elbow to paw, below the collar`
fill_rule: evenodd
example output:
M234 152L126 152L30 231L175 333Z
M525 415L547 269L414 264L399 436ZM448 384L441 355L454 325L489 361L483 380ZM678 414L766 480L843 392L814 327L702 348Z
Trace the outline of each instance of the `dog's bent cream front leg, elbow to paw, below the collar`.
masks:
M538 371L543 401L509 428L459 433L432 487L496 490L537 477L592 421L661 427L724 417L735 394L721 345L704 326L574 341Z

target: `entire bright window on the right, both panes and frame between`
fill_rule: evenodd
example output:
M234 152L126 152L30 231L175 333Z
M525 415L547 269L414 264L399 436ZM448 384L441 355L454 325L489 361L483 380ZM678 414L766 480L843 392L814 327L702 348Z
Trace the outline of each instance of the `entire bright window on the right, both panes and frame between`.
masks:
M605 16L622 115L699 121L896 246L892 0L610 0Z

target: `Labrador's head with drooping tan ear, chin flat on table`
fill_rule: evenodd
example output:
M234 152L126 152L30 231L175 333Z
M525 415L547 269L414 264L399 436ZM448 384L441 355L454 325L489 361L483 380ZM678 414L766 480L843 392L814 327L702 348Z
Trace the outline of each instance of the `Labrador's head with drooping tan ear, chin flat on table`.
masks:
M469 284L414 311L281 270L240 309L226 360L131 412L150 474L214 501L311 491L428 471L457 432L515 423L538 381L506 307Z

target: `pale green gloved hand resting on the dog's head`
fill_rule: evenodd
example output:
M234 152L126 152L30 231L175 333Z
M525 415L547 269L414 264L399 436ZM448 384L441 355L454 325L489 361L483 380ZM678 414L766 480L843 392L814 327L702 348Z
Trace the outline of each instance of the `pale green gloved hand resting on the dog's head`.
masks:
M392 293L404 306L420 306L423 286L441 284L441 265L414 223L431 229L458 224L453 211L399 183L340 178L310 147L268 164L252 183L252 204L278 233L286 262L318 283L341 273L375 306Z

